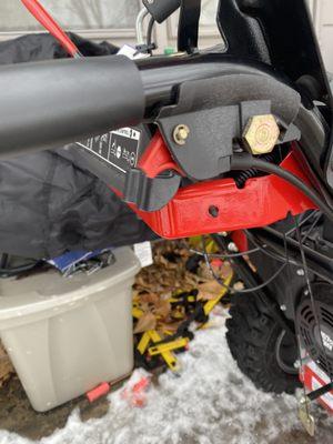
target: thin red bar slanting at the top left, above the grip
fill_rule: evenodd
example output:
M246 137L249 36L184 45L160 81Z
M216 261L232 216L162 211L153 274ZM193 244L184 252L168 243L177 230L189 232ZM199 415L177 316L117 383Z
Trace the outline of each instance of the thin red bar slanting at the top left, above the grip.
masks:
M72 57L81 57L78 47L71 41L57 21L40 4L38 0L21 0L32 16L59 41Z

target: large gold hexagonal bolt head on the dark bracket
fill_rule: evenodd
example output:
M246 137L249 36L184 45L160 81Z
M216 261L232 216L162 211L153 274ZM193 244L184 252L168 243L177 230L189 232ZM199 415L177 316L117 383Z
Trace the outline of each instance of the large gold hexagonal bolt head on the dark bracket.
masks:
M255 115L245 127L243 139L252 154L266 154L273 151L279 141L280 128L273 114Z

